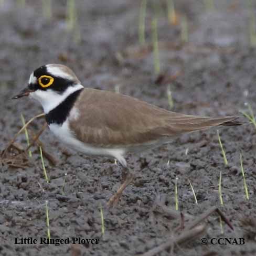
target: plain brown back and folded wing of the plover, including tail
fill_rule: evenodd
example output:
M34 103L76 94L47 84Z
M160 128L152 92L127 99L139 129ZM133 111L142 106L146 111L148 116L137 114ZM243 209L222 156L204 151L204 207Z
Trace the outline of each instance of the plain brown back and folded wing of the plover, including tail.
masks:
M85 88L75 106L79 123L70 122L77 138L92 145L113 147L142 144L217 125L234 125L235 117L204 118L178 114L126 95Z

